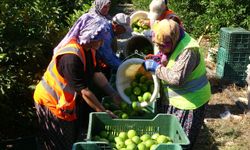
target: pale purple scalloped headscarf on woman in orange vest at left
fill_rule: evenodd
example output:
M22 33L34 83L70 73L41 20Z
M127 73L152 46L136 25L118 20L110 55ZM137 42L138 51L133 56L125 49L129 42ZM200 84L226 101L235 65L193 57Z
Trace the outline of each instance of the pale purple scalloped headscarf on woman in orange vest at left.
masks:
M110 26L105 19L96 18L89 13L83 14L54 48L54 53L72 38L76 38L79 44L86 44L91 39L102 39L108 30L110 30Z

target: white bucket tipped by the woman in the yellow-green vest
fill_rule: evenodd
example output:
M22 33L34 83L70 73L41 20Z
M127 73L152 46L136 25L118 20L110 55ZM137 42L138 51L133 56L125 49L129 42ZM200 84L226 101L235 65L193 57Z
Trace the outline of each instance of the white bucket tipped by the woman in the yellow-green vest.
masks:
M125 60L118 68L116 73L116 88L119 92L121 98L131 104L130 98L124 93L124 90L130 86L132 80L135 79L135 75L137 73L142 73L145 76L153 79L154 82L154 90L149 102L138 103L141 107L146 107L152 102L156 101L156 98L159 94L160 83L155 74L148 72L143 67L143 59L140 58L130 58Z

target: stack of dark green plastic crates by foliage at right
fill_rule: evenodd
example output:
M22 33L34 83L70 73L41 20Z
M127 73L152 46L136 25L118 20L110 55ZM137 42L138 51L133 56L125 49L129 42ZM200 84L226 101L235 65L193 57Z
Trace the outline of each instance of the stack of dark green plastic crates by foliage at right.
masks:
M221 28L216 75L236 84L245 84L250 56L250 31L243 28Z

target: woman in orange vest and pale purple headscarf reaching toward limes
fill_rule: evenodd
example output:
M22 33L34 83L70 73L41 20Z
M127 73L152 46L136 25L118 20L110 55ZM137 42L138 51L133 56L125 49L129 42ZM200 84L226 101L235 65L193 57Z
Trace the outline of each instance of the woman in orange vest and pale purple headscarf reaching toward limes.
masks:
M99 71L96 50L109 25L90 13L83 14L55 49L51 62L34 92L44 149L69 150L83 140L92 111L107 112L90 85L94 82L119 105L121 97Z

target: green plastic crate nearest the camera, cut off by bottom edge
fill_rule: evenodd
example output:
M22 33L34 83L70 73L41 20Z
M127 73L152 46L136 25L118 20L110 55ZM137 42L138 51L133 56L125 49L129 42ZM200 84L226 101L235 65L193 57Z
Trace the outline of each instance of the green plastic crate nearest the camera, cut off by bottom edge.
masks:
M72 150L113 150L109 144L101 142L77 142ZM179 144L159 144L155 150L182 150Z

